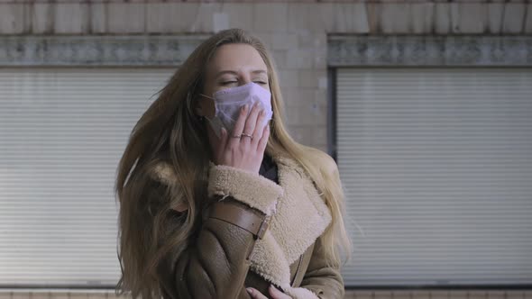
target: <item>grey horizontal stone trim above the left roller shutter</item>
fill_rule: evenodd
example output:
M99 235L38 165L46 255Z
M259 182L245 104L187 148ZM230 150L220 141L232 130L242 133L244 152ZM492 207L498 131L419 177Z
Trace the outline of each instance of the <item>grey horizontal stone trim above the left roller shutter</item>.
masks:
M206 35L1 36L0 66L174 66Z

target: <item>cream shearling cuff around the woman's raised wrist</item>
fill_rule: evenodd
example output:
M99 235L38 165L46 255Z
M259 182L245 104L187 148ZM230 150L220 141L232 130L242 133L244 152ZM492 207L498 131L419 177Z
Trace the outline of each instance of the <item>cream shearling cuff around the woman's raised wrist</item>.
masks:
M271 215L275 213L275 205L283 195L283 189L259 174L211 162L208 195L232 196L266 215Z

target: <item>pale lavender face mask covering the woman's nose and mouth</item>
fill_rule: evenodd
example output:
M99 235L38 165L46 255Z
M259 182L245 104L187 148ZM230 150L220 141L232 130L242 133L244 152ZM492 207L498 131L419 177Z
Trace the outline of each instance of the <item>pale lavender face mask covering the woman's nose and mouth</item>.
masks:
M215 117L212 119L206 117L206 119L218 138L220 138L222 134L222 128L225 128L229 134L233 131L234 124L236 123L236 120L238 120L240 114L240 109L244 104L248 104L248 107L250 108L247 113L247 115L249 115L252 111L252 105L256 102L260 103L258 108L263 108L264 113L266 113L264 122L257 124L261 126L261 129L264 129L264 126L271 120L271 116L273 115L273 112L271 111L270 91L253 82L243 86L217 91L213 97L207 95L203 96L215 101Z

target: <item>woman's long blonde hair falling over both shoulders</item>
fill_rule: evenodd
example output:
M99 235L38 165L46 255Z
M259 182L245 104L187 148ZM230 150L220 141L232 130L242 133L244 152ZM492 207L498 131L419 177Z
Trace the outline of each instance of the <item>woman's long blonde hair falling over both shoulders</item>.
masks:
M228 43L251 45L268 68L273 122L266 151L282 152L296 159L323 193L333 215L332 224L321 238L329 264L339 265L341 252L347 257L351 251L342 215L344 192L337 169L331 167L335 166L334 161L289 136L282 122L284 105L273 60L260 40L243 30L230 29L216 33L192 52L133 127L115 181L120 203L119 293L131 292L133 298L160 297L157 267L170 250L182 253L197 229L201 199L206 196L209 146L205 124L194 113L194 101L202 92L206 63L218 47ZM173 166L183 198L171 198L167 191L157 196L159 203L148 203L146 192L156 187L148 169L161 159ZM188 204L187 218L179 227L172 227L168 219L177 200Z

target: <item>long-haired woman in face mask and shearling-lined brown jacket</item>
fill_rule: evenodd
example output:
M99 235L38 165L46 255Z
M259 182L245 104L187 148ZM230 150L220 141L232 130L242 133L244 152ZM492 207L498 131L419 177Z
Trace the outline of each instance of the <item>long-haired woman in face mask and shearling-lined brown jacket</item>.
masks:
M170 78L118 168L123 293L343 298L338 170L289 137L282 107L269 54L242 30Z

